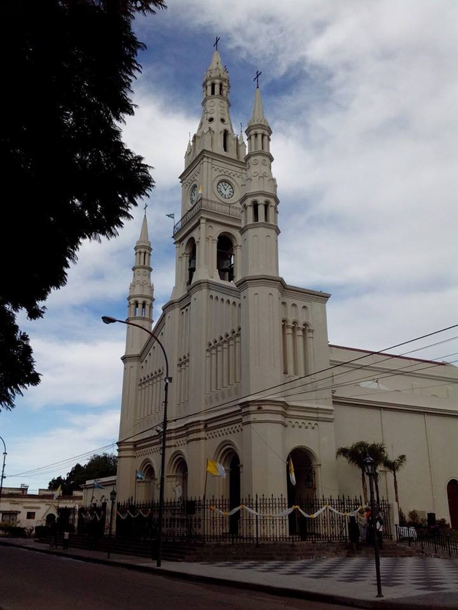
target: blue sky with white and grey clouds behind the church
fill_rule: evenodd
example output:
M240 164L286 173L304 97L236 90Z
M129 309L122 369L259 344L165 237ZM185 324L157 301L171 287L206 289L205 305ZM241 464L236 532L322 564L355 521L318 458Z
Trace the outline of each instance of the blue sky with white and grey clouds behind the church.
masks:
M217 35L235 131L246 127L262 71L280 275L332 293L330 343L378 351L458 323L457 23L454 0L169 0L138 18L147 50L123 138L154 167L154 319L174 279L165 215L180 218L178 176ZM101 448L115 450L125 326L100 318L126 317L143 205L117 239L82 245L42 320L19 317L42 382L0 414L4 486L36 492ZM432 340L415 343L412 355L452 362L456 335L440 334L451 340L429 349L420 348Z

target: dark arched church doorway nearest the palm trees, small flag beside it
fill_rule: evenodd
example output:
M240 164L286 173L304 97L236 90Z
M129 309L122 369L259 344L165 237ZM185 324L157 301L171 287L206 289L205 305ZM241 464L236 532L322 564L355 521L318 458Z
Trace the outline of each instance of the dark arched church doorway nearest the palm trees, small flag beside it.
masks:
M293 462L295 485L293 485L289 474L290 459ZM286 490L288 507L299 504L305 512L313 512L313 510L310 510L310 504L316 490L315 471L311 454L304 447L297 447L288 455L286 460ZM289 515L289 534L300 534L301 540L305 540L307 537L307 521L307 517L298 515L297 511L293 511Z

